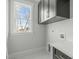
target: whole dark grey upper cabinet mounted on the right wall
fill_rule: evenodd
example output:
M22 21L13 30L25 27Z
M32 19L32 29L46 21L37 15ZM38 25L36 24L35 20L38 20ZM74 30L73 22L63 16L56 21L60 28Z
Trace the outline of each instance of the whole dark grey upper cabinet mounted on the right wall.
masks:
M70 18L70 0L40 0L40 24L49 24Z

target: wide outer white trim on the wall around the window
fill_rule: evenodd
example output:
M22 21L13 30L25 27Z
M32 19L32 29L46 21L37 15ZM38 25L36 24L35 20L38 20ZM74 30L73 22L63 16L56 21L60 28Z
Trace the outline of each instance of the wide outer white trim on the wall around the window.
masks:
M15 17L15 3L16 3L17 1L14 1L14 3L13 3L13 16L12 16L12 18L11 18L11 33L31 33L32 31L33 31L33 6L34 6L34 4L32 4L32 3L29 3L29 2L27 2L27 1L22 1L22 2L18 2L18 3L23 3L24 5L26 5L26 6L29 6L30 8L31 8L31 32L17 32L16 31L16 17Z

